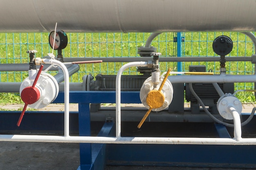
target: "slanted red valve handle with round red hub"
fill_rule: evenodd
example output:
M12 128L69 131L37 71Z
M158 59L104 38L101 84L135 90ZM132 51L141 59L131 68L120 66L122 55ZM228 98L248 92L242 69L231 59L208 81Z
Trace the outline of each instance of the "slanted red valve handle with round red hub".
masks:
M24 108L20 114L20 118L18 120L17 126L20 126L20 123L22 121L22 118L25 114L25 110L27 108L27 105L29 104L33 104L36 103L38 101L38 99L40 98L40 91L38 90L38 88L36 88L36 83L38 81L38 78L41 74L43 70L43 65L40 66L38 73L36 74L36 78L34 80L34 83L32 86L26 87L22 90L20 97L22 99L22 101L25 103Z

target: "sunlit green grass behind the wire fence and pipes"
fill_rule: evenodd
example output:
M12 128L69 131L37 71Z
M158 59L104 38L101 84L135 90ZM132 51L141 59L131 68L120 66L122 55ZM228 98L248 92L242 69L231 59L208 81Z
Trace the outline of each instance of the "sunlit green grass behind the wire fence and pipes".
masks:
M48 44L49 33L0 33L0 63L27 63L29 49L36 49L36 57L43 57L51 53ZM139 57L137 48L144 46L150 33L67 33L68 45L63 50L64 57ZM219 35L229 36L234 47L230 56L251 56L254 53L253 43L242 33L236 32L209 32L183 33L185 42L182 43L182 56L216 56L212 50L212 42ZM153 41L152 45L163 57L177 56L176 43L173 37L176 33L162 33ZM56 55L56 51L54 52ZM218 56L216 56L218 57ZM81 64L80 71L70 77L71 82L82 82L83 75L92 73L95 77L116 75L119 68L125 63ZM189 70L189 65L206 65L207 70L219 73L219 62L186 62L182 64L183 71ZM252 75L254 65L250 62L227 62L227 74ZM160 63L161 71L170 67L177 71L176 62ZM51 72L55 74L55 72ZM136 68L130 68L125 75L137 75ZM28 76L27 72L0 72L0 82L21 82ZM236 83L235 90L253 89L253 83ZM255 102L253 93L240 92L237 94L243 102ZM0 93L0 102L22 102L15 94Z

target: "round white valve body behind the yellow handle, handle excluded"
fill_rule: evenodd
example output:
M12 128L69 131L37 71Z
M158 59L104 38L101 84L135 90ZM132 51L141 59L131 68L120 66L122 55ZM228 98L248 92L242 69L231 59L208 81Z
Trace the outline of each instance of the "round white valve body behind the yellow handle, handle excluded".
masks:
M161 77L160 82L162 82L163 79L164 79L164 77ZM161 85L161 83L159 83L156 86L156 89L159 89L160 85ZM144 83L142 84L141 89L140 89L140 93L139 93L141 103L148 109L149 109L149 106L146 102L146 98L148 96L148 92L153 90L153 88L154 88L153 86L154 86L154 84L152 82L152 77L148 77L144 81ZM159 108L152 108L153 111L164 110L165 108L167 108L171 104L171 101L173 99L173 86L172 86L171 82L168 79L166 79L166 82L164 83L164 86L162 88L162 93L164 94L164 104Z

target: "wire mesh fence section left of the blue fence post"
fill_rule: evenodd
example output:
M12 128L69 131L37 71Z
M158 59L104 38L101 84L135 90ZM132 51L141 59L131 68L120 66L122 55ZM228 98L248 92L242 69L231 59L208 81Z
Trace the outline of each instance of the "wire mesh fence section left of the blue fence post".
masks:
M139 57L137 48L144 46L150 33L67 33L68 45L63 50L63 57ZM0 63L28 63L27 50L38 51L36 57L51 53L48 43L49 33L0 33ZM152 45L164 57L176 56L176 33L163 33L153 40ZM54 52L57 56L57 52ZM124 63L81 64L72 82L81 82L82 76L92 73L115 75ZM162 63L161 70L175 68L175 63ZM126 75L138 74L136 68L125 71ZM20 82L27 77L27 72L0 72L1 82Z

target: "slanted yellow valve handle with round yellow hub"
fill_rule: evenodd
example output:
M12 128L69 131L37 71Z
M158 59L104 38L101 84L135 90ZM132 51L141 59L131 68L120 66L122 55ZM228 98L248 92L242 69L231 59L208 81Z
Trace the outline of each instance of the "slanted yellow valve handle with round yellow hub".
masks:
M142 124L144 123L144 121L146 120L146 118L148 117L149 113L153 108L159 108L164 104L164 94L162 92L162 88L170 72L171 72L171 68L168 69L158 90L152 90L148 92L146 102L149 106L149 109L147 113L144 115L144 117L141 119L141 121L139 122L139 125L137 126L138 128L141 128Z

